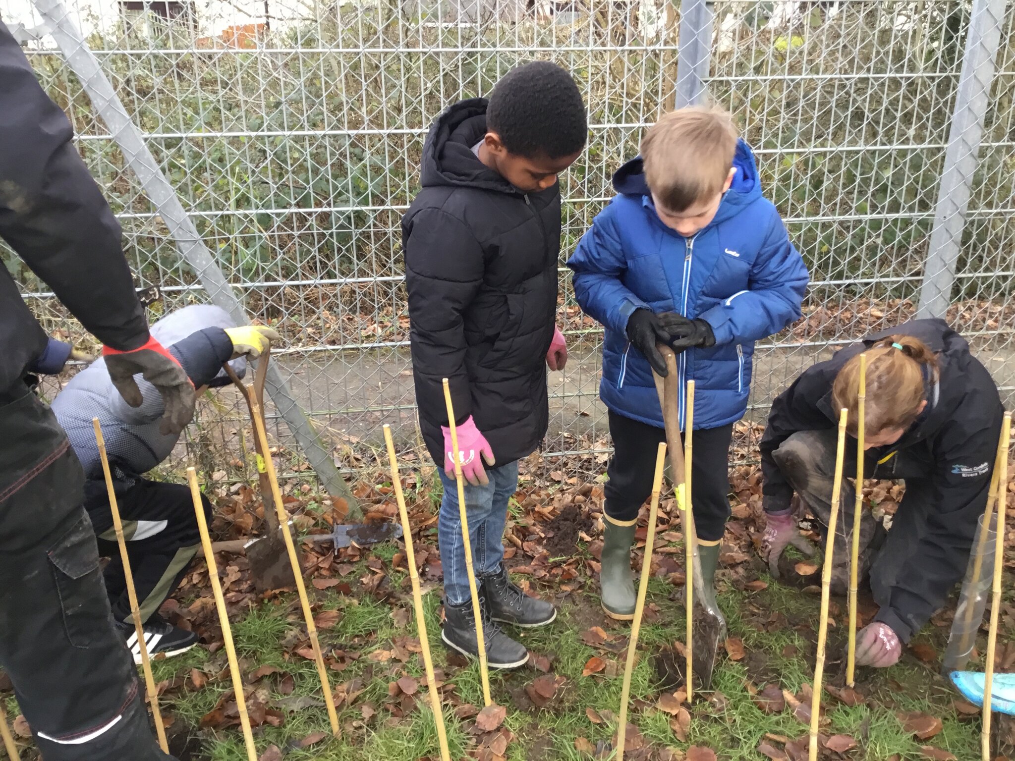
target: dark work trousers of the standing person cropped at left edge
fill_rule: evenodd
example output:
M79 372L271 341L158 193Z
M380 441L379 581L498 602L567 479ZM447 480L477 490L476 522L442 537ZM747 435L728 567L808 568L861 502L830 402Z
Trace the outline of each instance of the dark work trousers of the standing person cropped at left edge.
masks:
M25 394L0 408L0 666L46 761L155 761L81 507L81 466Z

